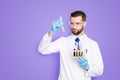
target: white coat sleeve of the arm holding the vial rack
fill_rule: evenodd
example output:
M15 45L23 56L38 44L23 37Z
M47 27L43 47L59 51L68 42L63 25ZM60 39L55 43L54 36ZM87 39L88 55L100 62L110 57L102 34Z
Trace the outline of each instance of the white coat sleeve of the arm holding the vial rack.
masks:
M85 71L85 75L87 77L96 77L100 76L103 73L103 60L102 55L100 52L100 48L98 44L96 43L95 46L92 48L93 55L91 56L92 60L89 62L89 70Z

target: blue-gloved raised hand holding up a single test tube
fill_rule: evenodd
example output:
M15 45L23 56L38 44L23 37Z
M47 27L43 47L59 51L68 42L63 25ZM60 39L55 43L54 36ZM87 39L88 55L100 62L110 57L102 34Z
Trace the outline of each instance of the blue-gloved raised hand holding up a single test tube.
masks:
M63 26L63 22L60 19L53 21L52 27L50 29L50 33L55 34L56 31L62 26Z

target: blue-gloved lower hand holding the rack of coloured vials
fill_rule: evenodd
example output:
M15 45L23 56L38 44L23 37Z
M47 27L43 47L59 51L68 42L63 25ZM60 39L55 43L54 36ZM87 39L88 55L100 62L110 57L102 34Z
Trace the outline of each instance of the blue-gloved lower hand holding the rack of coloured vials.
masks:
M80 63L80 66L85 69L88 70L89 69L89 64L88 64L88 60L85 58L85 56L79 56L77 57L78 62Z

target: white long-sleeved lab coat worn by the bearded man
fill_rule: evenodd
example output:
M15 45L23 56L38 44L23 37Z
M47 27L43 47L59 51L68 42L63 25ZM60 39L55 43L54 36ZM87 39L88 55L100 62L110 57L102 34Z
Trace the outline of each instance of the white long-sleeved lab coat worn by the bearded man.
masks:
M42 54L60 53L60 73L58 80L91 80L91 77L100 76L103 73L103 60L99 46L96 41L82 35L80 41L82 49L87 49L86 58L89 70L81 68L77 60L73 58L76 36L61 37L51 41L46 33L42 38L38 51Z

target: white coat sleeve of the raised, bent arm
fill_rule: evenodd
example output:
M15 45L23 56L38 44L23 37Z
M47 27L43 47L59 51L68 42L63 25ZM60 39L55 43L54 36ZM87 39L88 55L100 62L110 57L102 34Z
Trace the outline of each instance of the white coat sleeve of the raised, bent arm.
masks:
M51 42L51 40L52 37L49 37L48 33L46 33L39 43L38 51L42 54L57 53L59 51L60 40L56 40L54 42Z

